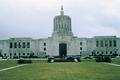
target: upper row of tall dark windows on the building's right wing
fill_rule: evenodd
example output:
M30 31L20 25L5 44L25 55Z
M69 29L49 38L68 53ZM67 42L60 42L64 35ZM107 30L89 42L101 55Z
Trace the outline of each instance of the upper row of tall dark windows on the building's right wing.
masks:
M116 47L116 40L101 40L96 41L96 47Z

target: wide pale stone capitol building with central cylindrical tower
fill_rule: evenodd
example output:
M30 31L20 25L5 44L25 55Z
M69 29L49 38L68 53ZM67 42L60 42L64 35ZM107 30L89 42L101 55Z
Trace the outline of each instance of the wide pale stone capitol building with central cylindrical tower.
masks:
M0 40L0 56L3 58L45 57L45 56L93 56L120 55L120 38L116 36L94 36L78 38L74 36L71 18L64 14L61 7L60 15L53 19L51 37L10 38Z

